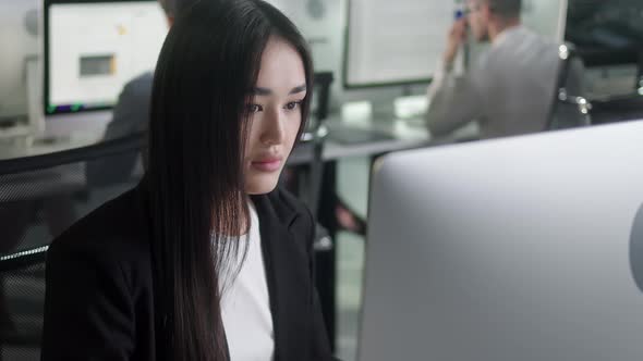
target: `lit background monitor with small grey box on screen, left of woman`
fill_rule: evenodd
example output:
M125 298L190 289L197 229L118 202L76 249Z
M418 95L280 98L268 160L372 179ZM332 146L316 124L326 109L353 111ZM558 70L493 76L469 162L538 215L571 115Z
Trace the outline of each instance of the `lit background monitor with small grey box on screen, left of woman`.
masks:
M113 107L154 70L167 32L156 0L46 0L45 114Z

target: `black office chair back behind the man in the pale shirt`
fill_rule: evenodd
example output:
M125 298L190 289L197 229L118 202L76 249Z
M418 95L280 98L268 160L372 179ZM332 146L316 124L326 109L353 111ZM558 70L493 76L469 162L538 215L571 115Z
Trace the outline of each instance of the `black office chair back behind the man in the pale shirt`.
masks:
M546 130L589 126L592 104L584 98L583 80L579 78L583 74L583 61L571 45L561 45L558 57L560 67Z

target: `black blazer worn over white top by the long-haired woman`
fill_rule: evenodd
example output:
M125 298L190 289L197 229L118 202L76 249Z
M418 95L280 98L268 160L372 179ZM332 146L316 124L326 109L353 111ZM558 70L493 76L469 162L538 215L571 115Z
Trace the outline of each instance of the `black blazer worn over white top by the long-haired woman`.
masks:
M313 276L311 213L282 190L253 196L275 360L333 360ZM49 249L43 360L162 360L144 183L73 225Z

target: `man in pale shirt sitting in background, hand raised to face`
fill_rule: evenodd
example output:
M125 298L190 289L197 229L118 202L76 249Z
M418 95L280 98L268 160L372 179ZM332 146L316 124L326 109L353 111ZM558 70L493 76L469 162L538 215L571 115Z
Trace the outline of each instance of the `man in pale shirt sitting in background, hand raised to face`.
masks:
M469 0L466 16L450 29L447 49L428 89L426 122L439 137L477 121L481 138L544 130L560 70L559 45L521 25L521 0ZM470 28L490 49L456 76L453 62ZM570 70L570 94L582 96L582 64ZM572 85L573 84L573 85Z

